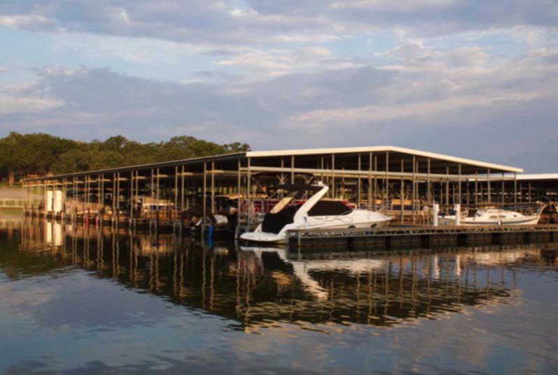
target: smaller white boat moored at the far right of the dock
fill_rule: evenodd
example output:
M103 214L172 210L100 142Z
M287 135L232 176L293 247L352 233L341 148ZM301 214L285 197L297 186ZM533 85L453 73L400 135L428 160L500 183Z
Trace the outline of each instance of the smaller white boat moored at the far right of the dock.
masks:
M485 208L475 212L464 212L460 217L463 226L517 226L534 225L541 219L542 209L534 214L522 214L508 209ZM440 216L440 223L455 225L455 215Z

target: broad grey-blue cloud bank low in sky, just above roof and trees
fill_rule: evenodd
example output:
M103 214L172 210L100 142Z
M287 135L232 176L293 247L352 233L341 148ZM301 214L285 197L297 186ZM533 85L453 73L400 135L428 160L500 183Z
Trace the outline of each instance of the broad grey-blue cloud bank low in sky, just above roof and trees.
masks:
M402 68L337 68L323 62L330 60L323 49L235 52L220 61L254 72L260 67L262 75L232 80L217 68L199 72L205 82L179 84L110 69L44 68L37 80L3 90L3 97L37 101L20 103L29 110L4 105L0 131L143 141L189 134L254 149L395 144L465 157L473 152L527 170L553 168L552 156L541 159L558 142L553 50L534 49L494 66L487 66L483 48L437 52L423 44L382 57ZM293 71L293 61L300 70ZM270 75L275 69L282 74Z

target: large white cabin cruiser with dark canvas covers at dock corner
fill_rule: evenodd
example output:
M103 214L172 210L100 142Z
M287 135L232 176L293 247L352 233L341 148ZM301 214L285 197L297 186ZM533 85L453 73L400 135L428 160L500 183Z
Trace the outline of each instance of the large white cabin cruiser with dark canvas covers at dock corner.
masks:
M265 214L254 232L240 235L242 240L284 243L292 229L344 229L384 226L392 218L367 209L352 209L339 200L322 199L329 187L323 184L291 184L279 187L288 191L285 198ZM302 205L300 199L311 195Z

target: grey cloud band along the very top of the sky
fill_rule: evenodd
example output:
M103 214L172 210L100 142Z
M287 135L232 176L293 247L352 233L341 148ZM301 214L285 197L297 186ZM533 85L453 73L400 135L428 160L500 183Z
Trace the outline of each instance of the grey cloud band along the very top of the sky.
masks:
M0 24L181 43L309 43L379 28L433 36L518 26L558 27L554 0L6 0Z

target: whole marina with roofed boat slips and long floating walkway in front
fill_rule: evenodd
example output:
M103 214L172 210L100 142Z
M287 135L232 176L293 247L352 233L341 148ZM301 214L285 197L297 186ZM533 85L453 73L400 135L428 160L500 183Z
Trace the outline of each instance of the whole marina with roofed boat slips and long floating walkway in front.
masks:
M284 198L281 186L322 184L328 191L321 199L342 203L348 212L362 209L389 216L390 228L376 230L370 222L370 230L353 230L355 225L348 223L337 228L346 229L339 235L306 226L288 235L290 246L339 243L340 237L351 246L366 237L369 242L384 237L386 244L385 237L392 236L422 243L441 238L448 243L487 242L487 235L499 239L511 238L512 233L517 239L548 235L553 240L558 175L522 176L522 172L402 147L348 147L237 152L38 177L24 179L22 189L26 216L203 236L228 233L237 238L269 216ZM306 197L290 205L298 209ZM456 209L460 223L455 222ZM482 212L494 219L479 223L494 228L461 228L474 224ZM508 228L508 216L517 226ZM450 218L453 221L447 223ZM536 226L539 221L544 226Z

